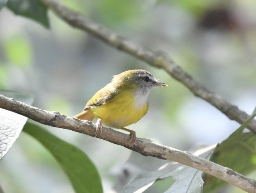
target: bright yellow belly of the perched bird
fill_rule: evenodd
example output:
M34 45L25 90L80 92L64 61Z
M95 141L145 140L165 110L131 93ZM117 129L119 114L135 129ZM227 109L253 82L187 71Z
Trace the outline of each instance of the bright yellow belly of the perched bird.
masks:
M149 108L147 100L141 106L135 105L133 93L124 93L116 96L109 103L92 108L95 117L100 118L102 123L109 127L122 128L139 121Z

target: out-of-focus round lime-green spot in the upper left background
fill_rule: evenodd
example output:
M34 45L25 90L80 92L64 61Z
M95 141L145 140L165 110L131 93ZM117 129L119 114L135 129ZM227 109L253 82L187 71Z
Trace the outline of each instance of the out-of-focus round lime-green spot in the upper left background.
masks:
M7 58L12 64L25 67L31 64L30 44L21 36L15 36L5 42Z

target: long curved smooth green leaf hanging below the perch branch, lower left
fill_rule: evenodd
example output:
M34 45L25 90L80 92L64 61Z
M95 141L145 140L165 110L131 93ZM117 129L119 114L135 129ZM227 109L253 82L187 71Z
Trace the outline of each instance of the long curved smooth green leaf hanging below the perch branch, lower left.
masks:
M51 152L66 172L76 193L103 192L99 173L83 151L30 122L23 131Z

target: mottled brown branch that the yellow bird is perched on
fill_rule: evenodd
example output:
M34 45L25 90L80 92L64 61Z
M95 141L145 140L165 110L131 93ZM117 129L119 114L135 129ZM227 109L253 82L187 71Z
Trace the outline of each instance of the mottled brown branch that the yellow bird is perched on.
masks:
M16 101L15 99L4 97L3 95L0 95L0 108L24 115L27 118L40 122L41 124L69 129L90 136L94 135L96 129L96 125L90 121L82 121L80 119L71 118L56 111L44 111ZM130 135L126 135L107 127L102 128L102 132L99 132L97 138L124 146L133 151L139 152L144 156L153 156L159 159L182 163L184 165L199 169L205 173L220 178L238 188L243 189L244 191L255 193L255 180L242 176L241 174L234 172L232 169L220 166L214 162L205 160L204 158L192 155L191 153L156 144L149 139L140 138L137 138L134 146L129 147Z

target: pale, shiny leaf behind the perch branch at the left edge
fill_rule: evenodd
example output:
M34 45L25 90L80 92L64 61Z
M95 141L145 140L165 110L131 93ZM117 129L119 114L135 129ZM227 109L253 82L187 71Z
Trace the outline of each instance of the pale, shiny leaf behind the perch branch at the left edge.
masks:
M34 96L11 90L0 90L0 94L8 98L15 98L23 103L31 105ZM27 118L25 116L13 113L0 108L0 160L6 155L12 144L19 137L20 132L25 125Z

